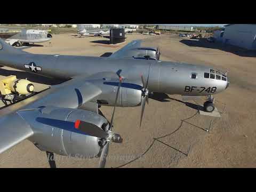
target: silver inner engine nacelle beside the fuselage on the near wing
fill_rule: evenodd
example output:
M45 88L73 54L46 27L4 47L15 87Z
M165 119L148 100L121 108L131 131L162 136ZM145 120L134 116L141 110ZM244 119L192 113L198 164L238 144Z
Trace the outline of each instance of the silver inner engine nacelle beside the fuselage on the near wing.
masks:
M95 84L95 82L94 82ZM116 92L118 89L117 79L105 79L97 83L102 93L93 101L99 105L115 106ZM141 103L142 87L134 83L128 83L126 79L122 82L117 99L118 107L135 107Z

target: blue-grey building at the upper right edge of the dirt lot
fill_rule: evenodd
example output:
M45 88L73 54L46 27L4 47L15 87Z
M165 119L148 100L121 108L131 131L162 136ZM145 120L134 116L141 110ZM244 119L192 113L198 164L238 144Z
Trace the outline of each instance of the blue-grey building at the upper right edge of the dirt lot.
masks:
M247 50L256 50L256 24L225 25L222 42Z

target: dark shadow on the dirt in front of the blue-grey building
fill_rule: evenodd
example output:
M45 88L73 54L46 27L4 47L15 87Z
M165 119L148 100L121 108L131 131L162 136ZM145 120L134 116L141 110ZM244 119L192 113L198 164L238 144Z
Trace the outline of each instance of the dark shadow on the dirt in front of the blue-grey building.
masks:
M256 51L249 51L241 47L227 45L227 44L225 45L220 42L210 43L210 42L207 42L205 38L201 38L198 40L182 39L180 42L188 46L219 49L221 51L230 52L241 57L256 57Z

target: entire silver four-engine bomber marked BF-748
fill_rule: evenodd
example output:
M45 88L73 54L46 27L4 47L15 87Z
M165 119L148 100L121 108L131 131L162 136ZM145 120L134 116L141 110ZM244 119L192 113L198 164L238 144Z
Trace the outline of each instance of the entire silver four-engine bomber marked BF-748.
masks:
M141 43L132 41L109 57L87 57L32 54L0 39L0 65L70 79L0 110L0 154L28 139L47 155L99 158L99 167L105 167L109 143L123 141L113 131L117 106L141 106L140 126L154 93L206 95L205 111L214 110L213 94L230 84L227 73L161 61L159 47ZM100 106L114 107L110 122L99 112Z

